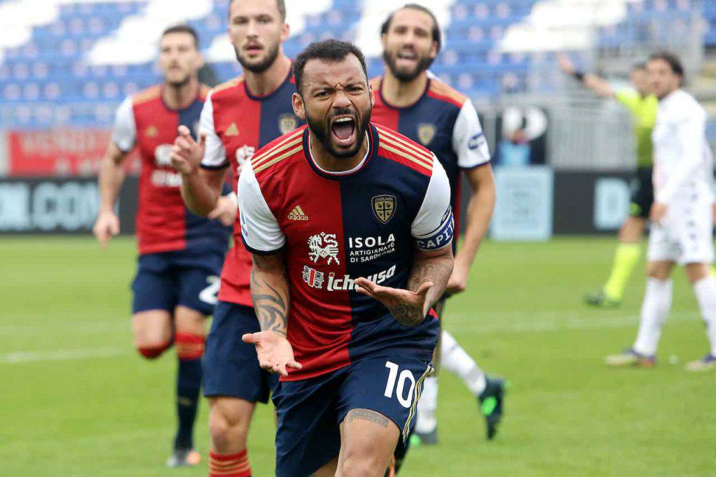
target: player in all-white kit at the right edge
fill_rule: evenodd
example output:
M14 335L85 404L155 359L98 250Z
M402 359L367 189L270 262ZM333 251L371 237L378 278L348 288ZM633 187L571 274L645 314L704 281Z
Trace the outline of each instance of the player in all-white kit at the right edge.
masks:
M652 54L647 64L659 97L654 126L654 205L650 213L647 292L632 349L606 357L609 365L652 367L672 302L671 272L684 266L706 324L710 352L687 370L716 370L716 278L712 232L713 160L706 142L706 112L681 89L684 69L673 54Z

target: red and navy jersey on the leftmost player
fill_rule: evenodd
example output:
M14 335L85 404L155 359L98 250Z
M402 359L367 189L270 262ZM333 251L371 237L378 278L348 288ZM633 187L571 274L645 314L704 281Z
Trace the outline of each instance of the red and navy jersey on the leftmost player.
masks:
M185 207L180 193L181 175L170 160L177 128L185 125L195 135L208 88L200 87L196 99L182 110L165 104L162 88L150 87L122 102L112 133L117 148L129 152L136 145L142 158L136 218L139 253L187 250L223 254L231 229Z

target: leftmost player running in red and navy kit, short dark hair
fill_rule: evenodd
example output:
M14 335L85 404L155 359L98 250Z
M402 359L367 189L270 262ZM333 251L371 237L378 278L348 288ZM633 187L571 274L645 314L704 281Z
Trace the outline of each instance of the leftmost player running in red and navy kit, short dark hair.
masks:
M163 32L159 67L164 82L127 98L117 110L112 142L100 170L101 206L93 230L103 247L119 233L114 204L124 179L122 161L137 145L142 156L137 210L140 256L132 284L132 329L137 350L149 360L172 343L177 350L179 428L167 462L172 467L200 461L193 450L193 427L201 387L204 317L216 302L218 274L231 233L228 225L233 221L231 203L236 203L236 198L222 198L210 218L196 216L185 208L181 178L170 165L178 125L188 131L199 120L208 90L198 81L202 65L193 29L174 26Z

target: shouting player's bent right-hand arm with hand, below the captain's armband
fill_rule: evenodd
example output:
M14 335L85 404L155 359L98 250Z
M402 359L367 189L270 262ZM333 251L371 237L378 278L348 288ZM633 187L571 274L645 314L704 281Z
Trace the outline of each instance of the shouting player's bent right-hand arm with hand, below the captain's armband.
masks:
M437 299L445 291L453 271L451 246L436 251L416 250L408 289L380 286L364 278L356 279L357 291L384 304L398 322L415 327L422 323Z

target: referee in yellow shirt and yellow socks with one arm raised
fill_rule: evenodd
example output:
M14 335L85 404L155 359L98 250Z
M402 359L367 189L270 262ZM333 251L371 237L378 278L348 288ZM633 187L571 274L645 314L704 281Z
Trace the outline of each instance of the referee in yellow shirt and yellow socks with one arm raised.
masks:
M614 264L611 266L609 278L601 290L584 296L584 302L594 307L618 307L624 296L629 276L632 275L632 271L639 261L641 253L639 243L642 241L649 211L654 201L652 130L657 117L659 100L650 90L647 69L644 64L635 65L629 75L635 91L629 88L614 90L604 78L596 76L596 74L580 72L566 55L561 54L558 58L563 72L571 74L599 96L616 99L632 114L637 145L637 177L635 181L637 187L632 193L629 218L619 229L619 245L616 247Z

